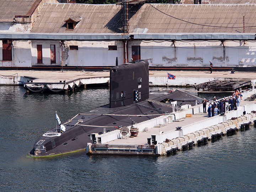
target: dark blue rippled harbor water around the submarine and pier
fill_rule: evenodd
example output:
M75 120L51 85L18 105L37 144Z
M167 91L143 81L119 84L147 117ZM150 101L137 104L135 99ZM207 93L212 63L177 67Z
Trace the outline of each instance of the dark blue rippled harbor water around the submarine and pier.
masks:
M254 126L170 156L26 156L55 126L55 111L65 120L107 104L108 94L26 94L23 87L0 86L0 191L256 191Z

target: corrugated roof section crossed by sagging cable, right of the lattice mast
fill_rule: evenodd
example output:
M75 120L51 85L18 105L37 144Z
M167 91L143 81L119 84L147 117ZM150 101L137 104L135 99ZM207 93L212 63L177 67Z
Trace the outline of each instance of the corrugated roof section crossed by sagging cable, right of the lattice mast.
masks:
M130 32L148 28L148 33L241 33L256 31L256 4L144 4L134 10Z

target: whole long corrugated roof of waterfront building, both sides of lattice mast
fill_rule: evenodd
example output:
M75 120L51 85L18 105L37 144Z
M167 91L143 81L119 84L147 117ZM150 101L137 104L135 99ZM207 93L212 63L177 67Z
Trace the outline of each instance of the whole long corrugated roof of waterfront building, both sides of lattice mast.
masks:
M256 4L143 4L129 10L130 32L148 33L254 33ZM243 23L245 16L245 23ZM65 20L81 17L75 29ZM33 33L122 33L121 5L44 4Z

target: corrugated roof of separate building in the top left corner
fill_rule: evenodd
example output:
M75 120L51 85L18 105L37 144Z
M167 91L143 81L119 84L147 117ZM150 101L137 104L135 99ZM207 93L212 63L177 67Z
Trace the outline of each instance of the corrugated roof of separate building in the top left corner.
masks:
M37 1L42 0L0 0L0 22L12 22L15 15L27 15Z

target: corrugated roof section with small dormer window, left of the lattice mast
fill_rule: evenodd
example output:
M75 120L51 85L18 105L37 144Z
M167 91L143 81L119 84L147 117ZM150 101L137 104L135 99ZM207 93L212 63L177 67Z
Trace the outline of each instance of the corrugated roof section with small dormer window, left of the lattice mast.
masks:
M65 21L80 17L74 30ZM36 33L121 33L121 5L44 4L32 31Z

